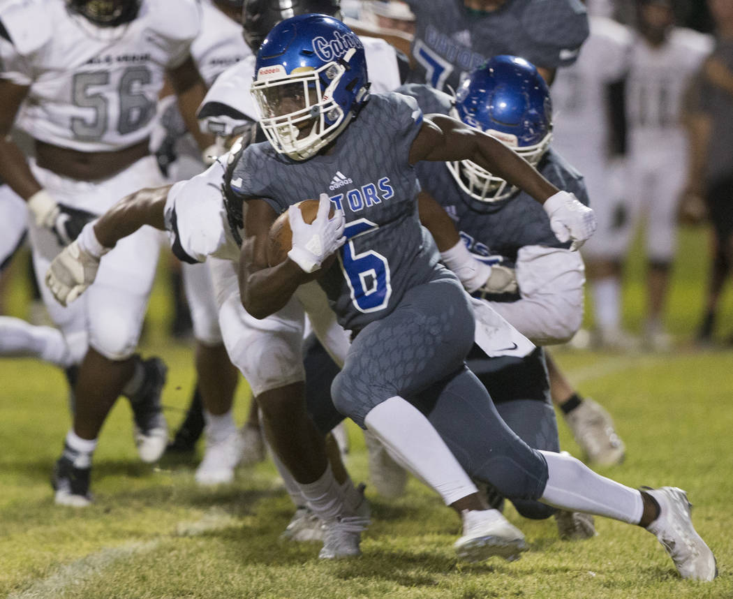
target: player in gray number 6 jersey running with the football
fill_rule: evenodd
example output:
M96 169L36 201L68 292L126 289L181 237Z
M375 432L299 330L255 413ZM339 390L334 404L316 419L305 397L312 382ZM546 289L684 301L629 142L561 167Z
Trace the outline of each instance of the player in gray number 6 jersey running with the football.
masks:
M361 43L333 18L301 15L279 23L262 43L256 73L252 92L270 143L249 146L232 179L232 190L247 203L243 305L254 317L267 317L338 252L338 262L315 275L353 335L332 386L334 405L461 512L465 535L458 553L513 558L525 544L496 510L483 509L476 487L431 425L429 418L441 412L453 428L444 436L453 453L476 456L481 477L505 496L647 527L682 576L712 580L715 558L693 529L682 490L619 485L573 457L531 449L498 416L465 367L474 316L420 226L413 165L470 160L542 204L550 229L575 246L594 230L592 210L460 120L424 119L404 95L370 97ZM318 213L306 223L298 202L314 197ZM292 249L270 265L270 225L285 210ZM475 440L463 430L478 422L485 435L468 447Z

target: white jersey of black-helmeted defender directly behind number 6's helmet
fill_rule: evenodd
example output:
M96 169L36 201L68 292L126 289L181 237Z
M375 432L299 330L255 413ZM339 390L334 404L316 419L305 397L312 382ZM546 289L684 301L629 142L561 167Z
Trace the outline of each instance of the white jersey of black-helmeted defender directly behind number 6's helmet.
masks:
M397 89L401 81L394 48L377 37L359 39L364 44L364 54L367 56L367 73L372 82L372 92L391 92ZM241 133L242 125L259 120L259 110L249 92L254 79L255 60L254 55L248 56L216 79L199 107L199 113L204 107L208 109L216 103L226 106L227 114L210 114L209 110L204 109L204 116L200 119L202 131L227 137Z

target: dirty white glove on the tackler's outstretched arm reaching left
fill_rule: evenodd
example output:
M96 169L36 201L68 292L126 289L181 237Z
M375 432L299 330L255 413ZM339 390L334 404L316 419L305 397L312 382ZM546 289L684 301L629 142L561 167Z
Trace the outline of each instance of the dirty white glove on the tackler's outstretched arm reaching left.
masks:
M51 261L45 274L45 284L59 304L67 306L84 293L94 282L100 259L108 251L99 243L93 224L89 223L79 238Z

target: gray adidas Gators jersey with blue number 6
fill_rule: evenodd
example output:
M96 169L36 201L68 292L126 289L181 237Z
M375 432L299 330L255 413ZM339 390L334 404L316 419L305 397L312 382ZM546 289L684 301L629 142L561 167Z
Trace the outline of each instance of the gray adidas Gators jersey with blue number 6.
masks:
M410 146L422 122L413 98L374 94L336 138L333 151L307 161L279 155L269 142L248 147L231 188L265 199L278 213L328 193L344 210L347 243L319 279L339 323L358 330L391 312L405 291L435 278L435 243L420 225Z

